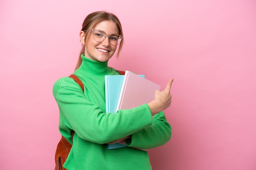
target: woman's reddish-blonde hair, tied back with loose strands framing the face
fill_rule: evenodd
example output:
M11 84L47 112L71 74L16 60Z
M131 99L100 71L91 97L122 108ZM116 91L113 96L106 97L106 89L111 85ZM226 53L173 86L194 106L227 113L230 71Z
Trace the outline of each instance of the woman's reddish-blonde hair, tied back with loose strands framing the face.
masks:
M119 21L117 16L112 13L106 12L106 11L97 11L97 12L93 12L93 13L90 13L89 15L87 15L87 17L83 21L83 26L82 26L81 31L90 30L95 25L99 24L102 21L106 21L106 20L115 22L115 24L117 25L117 28L119 30L119 35L124 37L121 22ZM85 31L85 41L88 36L88 33L89 33L89 31ZM117 57L119 57L119 54L123 47L123 44L124 44L124 39L122 39L119 44ZM85 45L82 44L82 49L80 51L75 70L77 70L80 67L80 65L82 63L81 55L84 54L84 52L85 52Z

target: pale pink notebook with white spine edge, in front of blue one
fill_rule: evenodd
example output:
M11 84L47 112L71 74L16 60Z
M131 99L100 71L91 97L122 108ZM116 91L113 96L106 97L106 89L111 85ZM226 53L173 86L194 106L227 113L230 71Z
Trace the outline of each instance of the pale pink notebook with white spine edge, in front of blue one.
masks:
M146 78L126 71L116 111L132 109L154 100L155 90L160 89L160 87Z

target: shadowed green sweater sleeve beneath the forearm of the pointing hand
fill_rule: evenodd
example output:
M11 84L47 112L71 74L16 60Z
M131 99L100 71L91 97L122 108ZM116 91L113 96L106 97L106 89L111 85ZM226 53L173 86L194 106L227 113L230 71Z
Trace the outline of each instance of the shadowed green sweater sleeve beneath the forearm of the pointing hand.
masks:
M172 129L167 122L164 112L161 111L154 116L153 124L132 134L131 140L126 144L142 149L162 146L171 139Z

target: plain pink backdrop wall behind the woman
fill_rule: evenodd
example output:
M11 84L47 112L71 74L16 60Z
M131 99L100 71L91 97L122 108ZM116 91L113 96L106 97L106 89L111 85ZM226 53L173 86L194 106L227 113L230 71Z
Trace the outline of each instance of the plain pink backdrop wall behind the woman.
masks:
M74 70L89 13L121 20L110 66L164 88L172 139L149 150L153 170L256 169L254 0L1 0L0 169L50 170L60 139L53 83Z

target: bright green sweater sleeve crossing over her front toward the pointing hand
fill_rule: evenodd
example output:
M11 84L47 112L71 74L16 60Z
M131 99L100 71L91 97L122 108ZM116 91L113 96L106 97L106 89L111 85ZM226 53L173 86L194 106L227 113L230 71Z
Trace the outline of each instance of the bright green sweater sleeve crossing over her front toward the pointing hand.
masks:
M70 138L69 129L82 139L105 144L126 137L153 123L148 105L117 113L104 113L99 105L89 100L71 78L61 78L54 83L53 94L60 110L59 129L64 137ZM66 136L65 136L66 135Z

